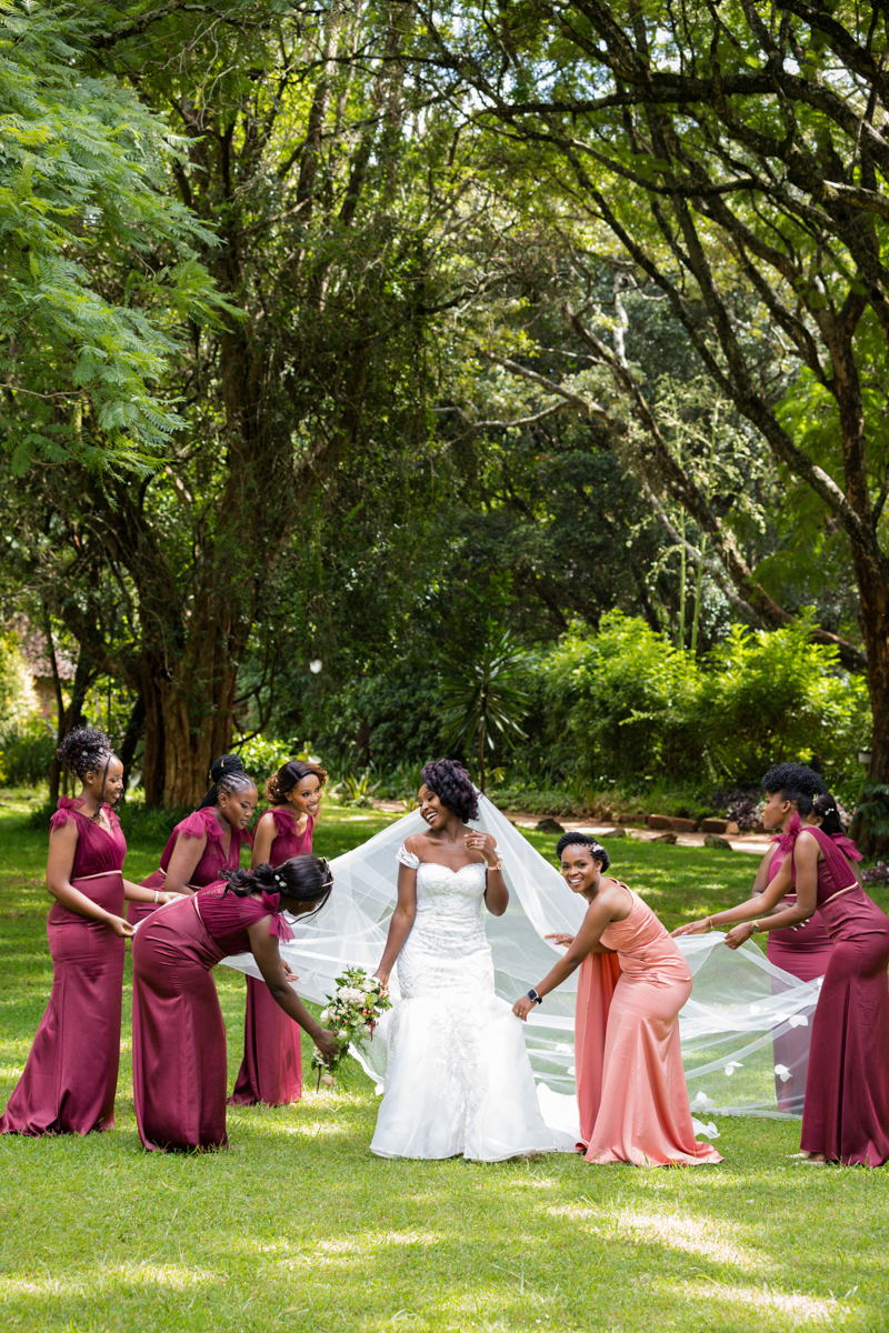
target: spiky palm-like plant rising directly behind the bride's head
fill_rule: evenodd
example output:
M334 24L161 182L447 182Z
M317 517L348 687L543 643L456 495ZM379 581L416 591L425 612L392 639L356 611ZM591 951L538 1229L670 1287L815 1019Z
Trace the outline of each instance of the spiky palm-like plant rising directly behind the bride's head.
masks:
M478 786L485 789L485 750L497 740L525 740L521 722L530 696L521 685L524 655L508 629L492 627L474 661L452 663L443 681L445 742L478 756Z

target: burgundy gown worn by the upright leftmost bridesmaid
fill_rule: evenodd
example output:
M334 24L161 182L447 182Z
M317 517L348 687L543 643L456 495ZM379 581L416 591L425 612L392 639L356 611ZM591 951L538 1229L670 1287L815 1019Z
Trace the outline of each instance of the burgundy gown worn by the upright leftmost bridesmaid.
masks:
M49 821L75 820L71 884L107 912L123 916L127 841L105 805L111 833L63 796ZM0 1133L88 1134L115 1124L120 1065L124 941L104 921L53 902L47 921L52 990L21 1078L0 1116Z

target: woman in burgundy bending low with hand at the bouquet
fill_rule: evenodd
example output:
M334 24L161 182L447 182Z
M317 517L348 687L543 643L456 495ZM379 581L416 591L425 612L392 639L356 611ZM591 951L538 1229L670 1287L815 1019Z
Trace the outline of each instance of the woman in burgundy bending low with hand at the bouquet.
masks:
M225 1025L211 969L251 952L275 1002L329 1057L336 1037L292 990L277 941L292 940L283 912L327 902L327 861L299 856L276 870L227 870L219 884L155 912L133 940L133 1090L145 1148L224 1148Z

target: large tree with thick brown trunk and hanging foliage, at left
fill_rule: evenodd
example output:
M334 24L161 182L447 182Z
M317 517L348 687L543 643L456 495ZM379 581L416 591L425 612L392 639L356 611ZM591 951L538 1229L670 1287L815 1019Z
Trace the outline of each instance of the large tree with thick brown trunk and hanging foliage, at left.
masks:
M432 112L423 141L405 132L424 108L399 4L101 13L81 63L177 124L168 187L213 232L203 257L239 317L191 325L168 380L187 428L163 469L139 485L36 469L29 485L51 511L35 531L53 609L143 701L147 800L185 804L231 745L251 628L313 491L381 439L425 440L427 236L448 208L429 167L446 135ZM103 281L123 297L128 273Z

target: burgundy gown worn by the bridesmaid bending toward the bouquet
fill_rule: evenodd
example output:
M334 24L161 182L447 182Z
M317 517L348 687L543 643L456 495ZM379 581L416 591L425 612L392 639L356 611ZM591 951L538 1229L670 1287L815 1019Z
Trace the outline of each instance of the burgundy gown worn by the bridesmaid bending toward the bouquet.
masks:
M133 1093L145 1148L224 1148L225 1024L211 976L229 953L249 953L248 928L272 914L292 932L277 894L239 897L209 884L167 902L133 938Z

